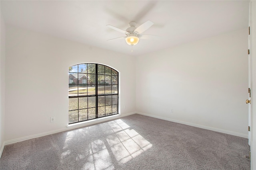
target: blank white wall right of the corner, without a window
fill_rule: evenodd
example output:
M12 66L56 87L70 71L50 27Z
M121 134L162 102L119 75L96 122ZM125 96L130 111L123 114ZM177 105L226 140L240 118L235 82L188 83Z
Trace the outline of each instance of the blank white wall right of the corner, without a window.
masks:
M136 58L136 111L248 135L247 49L242 29Z

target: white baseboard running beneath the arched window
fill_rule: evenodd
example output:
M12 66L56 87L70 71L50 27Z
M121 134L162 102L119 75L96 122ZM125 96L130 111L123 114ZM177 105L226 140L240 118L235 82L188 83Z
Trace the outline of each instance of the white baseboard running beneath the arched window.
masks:
M93 124L96 124L96 123L101 123L101 122L104 122L104 121L118 119L120 117L132 115L132 114L135 114L135 113L136 112L126 113L126 114L117 114L117 115L102 117L102 118L93 119L93 120L90 120L90 121L84 121L84 122L81 122L81 123L68 125L66 128L63 128L63 129L58 129L58 130L55 130L55 131L49 131L49 132L46 132L46 133L40 133L40 134L36 134L36 135L21 137L21 138L18 138L18 139L13 139L13 140L10 140L10 141L5 141L4 146L14 144L14 143L17 143L17 142L26 141L28 139L34 139L34 138L43 137L43 136L46 136L46 135L51 135L51 134L54 134L54 133L59 133L59 132L62 132L62 131L68 131L68 130L71 130L71 129L76 129L78 127L84 127L84 126L93 125ZM4 146L3 146L2 149L4 149ZM2 152L1 152L1 155L2 155Z

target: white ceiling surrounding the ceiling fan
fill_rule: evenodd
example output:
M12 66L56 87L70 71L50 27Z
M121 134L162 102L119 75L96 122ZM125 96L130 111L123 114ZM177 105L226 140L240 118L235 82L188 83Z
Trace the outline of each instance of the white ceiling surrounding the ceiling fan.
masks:
M248 27L249 1L0 1L6 24L16 25L88 45L142 55ZM130 21L154 25L144 34L161 39L140 39L131 52L124 34Z

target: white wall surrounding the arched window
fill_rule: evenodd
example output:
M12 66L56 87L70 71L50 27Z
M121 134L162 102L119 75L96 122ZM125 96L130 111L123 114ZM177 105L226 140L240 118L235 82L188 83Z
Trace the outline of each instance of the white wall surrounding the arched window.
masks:
M5 140L68 125L68 67L78 63L120 71L120 113L134 112L134 62L129 55L6 25ZM55 123L50 123L51 116Z

